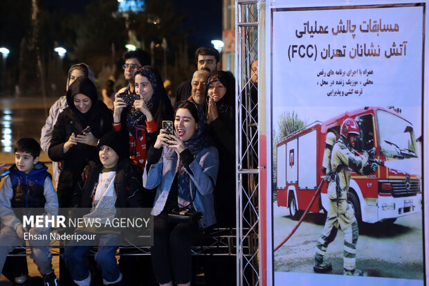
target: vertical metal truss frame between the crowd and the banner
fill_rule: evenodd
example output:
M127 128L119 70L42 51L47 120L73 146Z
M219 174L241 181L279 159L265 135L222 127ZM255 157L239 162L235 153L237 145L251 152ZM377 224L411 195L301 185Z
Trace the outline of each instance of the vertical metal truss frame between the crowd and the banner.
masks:
M237 285L260 285L259 91L251 64L258 59L259 15L264 1L235 0ZM246 250L246 251L245 251Z

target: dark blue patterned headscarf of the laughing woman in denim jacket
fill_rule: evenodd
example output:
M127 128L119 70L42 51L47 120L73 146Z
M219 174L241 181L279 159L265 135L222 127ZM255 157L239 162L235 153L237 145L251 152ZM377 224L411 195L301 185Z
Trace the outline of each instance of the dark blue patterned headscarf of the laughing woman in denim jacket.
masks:
M195 130L194 135L188 140L183 142L185 144L185 147L190 150L190 152L195 156L199 151L208 148L212 144L206 137L204 133L204 129L206 127L206 116L204 115L204 111L199 108L197 103L186 100L185 102L190 102L190 104L194 105L194 107L198 111L198 127L197 130ZM179 108L185 108L182 107L181 104L179 104ZM177 111L176 109L176 111ZM197 121L197 120L196 120ZM179 208L183 208L185 206L189 205L189 202L191 200L191 190L190 190L190 177L188 173L185 171L185 167L183 166L182 161L179 161L179 169L177 173L177 191L178 191L178 204ZM188 204L185 204L185 202L188 202Z

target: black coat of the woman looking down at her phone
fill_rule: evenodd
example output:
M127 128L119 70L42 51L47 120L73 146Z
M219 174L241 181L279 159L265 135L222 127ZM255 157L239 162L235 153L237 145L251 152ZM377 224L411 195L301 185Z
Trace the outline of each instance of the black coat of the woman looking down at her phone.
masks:
M67 107L58 116L52 132L48 155L52 161L61 162L61 172L57 186L60 207L70 206L71 194L77 180L80 178L80 174L89 161L94 161L98 157L98 151L95 146L82 143L73 145L69 152L64 154L64 143L69 140L72 133L82 134L87 125L91 126L91 133L96 138L101 138L102 135L111 131L113 116L111 110L103 102L95 102L93 108L88 112L91 114L86 114L88 120L84 123L73 109Z

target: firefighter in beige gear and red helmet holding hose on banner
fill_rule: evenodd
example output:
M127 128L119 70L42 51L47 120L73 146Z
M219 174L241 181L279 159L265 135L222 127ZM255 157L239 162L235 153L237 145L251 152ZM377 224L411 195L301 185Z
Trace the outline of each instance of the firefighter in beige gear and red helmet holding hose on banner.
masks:
M369 158L375 155L375 148L372 148L369 152L364 152L362 155L354 150L358 136L358 124L353 118L347 118L341 125L340 138L332 147L331 175L329 176L331 180L328 179L329 206L325 227L316 244L316 255L313 266L315 272L326 273L331 271L331 262L325 260L326 251L329 243L334 241L338 227L340 227L344 233L343 274L352 276L363 275L363 271L356 269L356 244L359 235L358 222L352 208L347 204L347 193L349 191L352 170L360 175L369 175L376 171L378 165L376 163L369 163ZM327 136L327 143L331 142L331 137Z

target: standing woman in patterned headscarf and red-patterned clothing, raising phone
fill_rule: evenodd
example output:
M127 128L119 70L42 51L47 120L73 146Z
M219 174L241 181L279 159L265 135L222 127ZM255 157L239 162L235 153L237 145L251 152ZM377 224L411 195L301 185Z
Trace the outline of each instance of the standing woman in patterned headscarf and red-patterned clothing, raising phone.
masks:
M140 99L127 106L118 95L113 102L113 129L129 132L129 156L143 172L146 150L156 140L162 120L172 120L173 109L163 82L151 66L134 73L135 91Z

